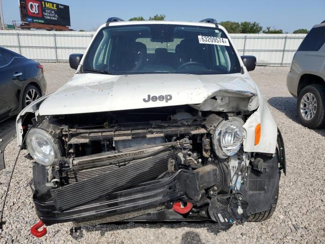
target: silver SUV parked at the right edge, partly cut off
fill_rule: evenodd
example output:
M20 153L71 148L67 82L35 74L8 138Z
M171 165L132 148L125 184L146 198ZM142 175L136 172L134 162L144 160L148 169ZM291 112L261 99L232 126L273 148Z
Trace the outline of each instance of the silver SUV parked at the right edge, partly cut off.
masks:
M325 21L315 25L299 46L286 85L298 98L297 113L308 128L325 125Z

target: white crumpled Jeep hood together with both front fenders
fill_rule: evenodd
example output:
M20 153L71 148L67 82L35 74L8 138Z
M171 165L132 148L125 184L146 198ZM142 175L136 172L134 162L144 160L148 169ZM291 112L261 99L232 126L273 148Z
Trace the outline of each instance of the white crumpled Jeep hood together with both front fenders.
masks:
M246 71L246 70L245 70ZM172 99L148 100L170 95ZM186 75L76 74L56 92L31 103L17 116L18 145L22 143L21 126L25 113L60 115L105 112L126 109L166 107L188 104L201 111L254 111L243 126L244 151L275 153L277 125L261 92L244 74ZM261 124L261 140L255 145L255 127Z

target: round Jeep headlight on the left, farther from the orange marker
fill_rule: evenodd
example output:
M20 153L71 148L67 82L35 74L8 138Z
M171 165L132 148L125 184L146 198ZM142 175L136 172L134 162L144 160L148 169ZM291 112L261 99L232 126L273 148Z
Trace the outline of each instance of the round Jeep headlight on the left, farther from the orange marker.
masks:
M59 158L59 150L53 137L42 129L33 128L26 135L30 156L39 164L49 166Z

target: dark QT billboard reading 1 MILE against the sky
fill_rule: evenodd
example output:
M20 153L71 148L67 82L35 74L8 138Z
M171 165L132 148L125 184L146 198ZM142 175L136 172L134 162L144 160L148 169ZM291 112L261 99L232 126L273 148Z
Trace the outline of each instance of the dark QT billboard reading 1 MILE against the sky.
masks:
M71 26L69 6L49 1L20 0L21 21Z

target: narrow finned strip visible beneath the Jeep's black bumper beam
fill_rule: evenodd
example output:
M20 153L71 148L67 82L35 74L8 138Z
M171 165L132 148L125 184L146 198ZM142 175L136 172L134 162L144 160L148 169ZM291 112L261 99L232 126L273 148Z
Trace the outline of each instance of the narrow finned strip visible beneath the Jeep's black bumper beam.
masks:
M164 205L150 206L135 211L121 212L119 214L107 215L100 218L91 218L88 220L75 221L73 222L73 226L81 227L85 225L104 224L104 223L109 223L114 221L127 220L141 215L149 214L149 212L158 211L164 208L165 208Z

